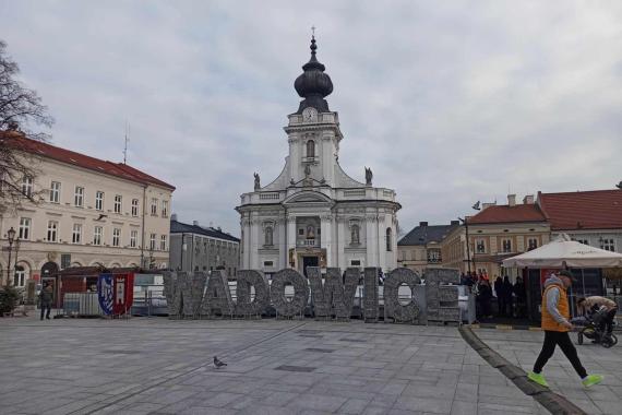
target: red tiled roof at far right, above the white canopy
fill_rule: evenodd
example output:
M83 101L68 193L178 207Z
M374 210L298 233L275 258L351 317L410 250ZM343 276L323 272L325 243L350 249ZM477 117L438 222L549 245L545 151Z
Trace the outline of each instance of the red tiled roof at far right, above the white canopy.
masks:
M622 190L538 192L553 230L622 228Z

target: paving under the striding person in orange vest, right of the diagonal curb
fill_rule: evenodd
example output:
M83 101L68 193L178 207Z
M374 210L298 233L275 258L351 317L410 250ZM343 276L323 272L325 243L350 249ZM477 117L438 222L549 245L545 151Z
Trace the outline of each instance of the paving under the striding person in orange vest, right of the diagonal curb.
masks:
M474 330L492 349L524 370L531 370L542 347L545 333L531 331ZM571 333L576 344L576 333ZM589 342L589 340L586 340ZM603 348L596 344L576 345L589 374L605 376L601 384L585 389L559 347L542 375L551 389L588 414L622 414L622 346Z

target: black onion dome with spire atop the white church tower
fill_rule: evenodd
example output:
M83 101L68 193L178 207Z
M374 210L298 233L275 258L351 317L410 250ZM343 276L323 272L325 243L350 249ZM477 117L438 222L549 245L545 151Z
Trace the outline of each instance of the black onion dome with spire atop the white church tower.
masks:
M327 73L324 73L326 68L315 58L315 37L311 38L311 59L304 63L302 70L304 71L294 82L294 87L298 95L304 98L300 102L297 114L302 112L307 107L314 107L320 112L327 112L328 103L324 99L325 96L333 92L333 81Z

